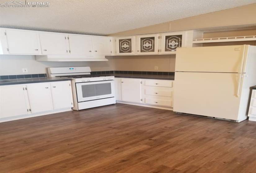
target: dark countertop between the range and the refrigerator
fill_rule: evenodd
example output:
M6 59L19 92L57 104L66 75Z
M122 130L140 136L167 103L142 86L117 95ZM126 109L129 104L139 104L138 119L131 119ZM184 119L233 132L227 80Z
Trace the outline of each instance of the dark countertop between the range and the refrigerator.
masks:
M141 78L141 79L162 79L162 80L174 80L174 76L171 75L149 75L149 74L107 74L115 76L115 78Z

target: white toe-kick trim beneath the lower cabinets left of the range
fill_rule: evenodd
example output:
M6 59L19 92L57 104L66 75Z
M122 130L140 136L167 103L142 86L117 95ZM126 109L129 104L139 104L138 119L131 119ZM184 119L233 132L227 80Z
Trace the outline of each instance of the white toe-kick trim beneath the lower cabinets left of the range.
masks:
M49 115L49 114L54 114L54 113L59 113L59 112L66 112L66 111L72 111L72 109L71 108L63 108L63 109L58 109L58 110L54 110L54 111L45 111L45 112L34 113L34 114L0 118L0 123L6 122L6 121L20 120L20 119L24 119L24 118L31 118L31 117L36 117L36 116Z

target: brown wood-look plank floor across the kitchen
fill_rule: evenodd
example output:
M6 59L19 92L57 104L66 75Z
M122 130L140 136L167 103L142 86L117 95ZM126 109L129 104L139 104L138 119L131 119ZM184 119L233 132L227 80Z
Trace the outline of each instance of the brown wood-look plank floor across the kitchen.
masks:
M0 123L1 173L254 173L256 122L108 105Z

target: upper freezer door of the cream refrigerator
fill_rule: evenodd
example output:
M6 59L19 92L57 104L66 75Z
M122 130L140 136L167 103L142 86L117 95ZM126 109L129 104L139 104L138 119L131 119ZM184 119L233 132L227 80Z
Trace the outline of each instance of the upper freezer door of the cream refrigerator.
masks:
M178 48L175 71L243 73L248 45Z

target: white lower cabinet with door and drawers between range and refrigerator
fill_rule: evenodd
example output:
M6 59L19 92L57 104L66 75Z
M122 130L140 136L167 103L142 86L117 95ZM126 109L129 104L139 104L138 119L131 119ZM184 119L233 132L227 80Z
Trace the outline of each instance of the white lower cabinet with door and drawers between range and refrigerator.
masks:
M116 100L173 107L173 80L115 78Z

